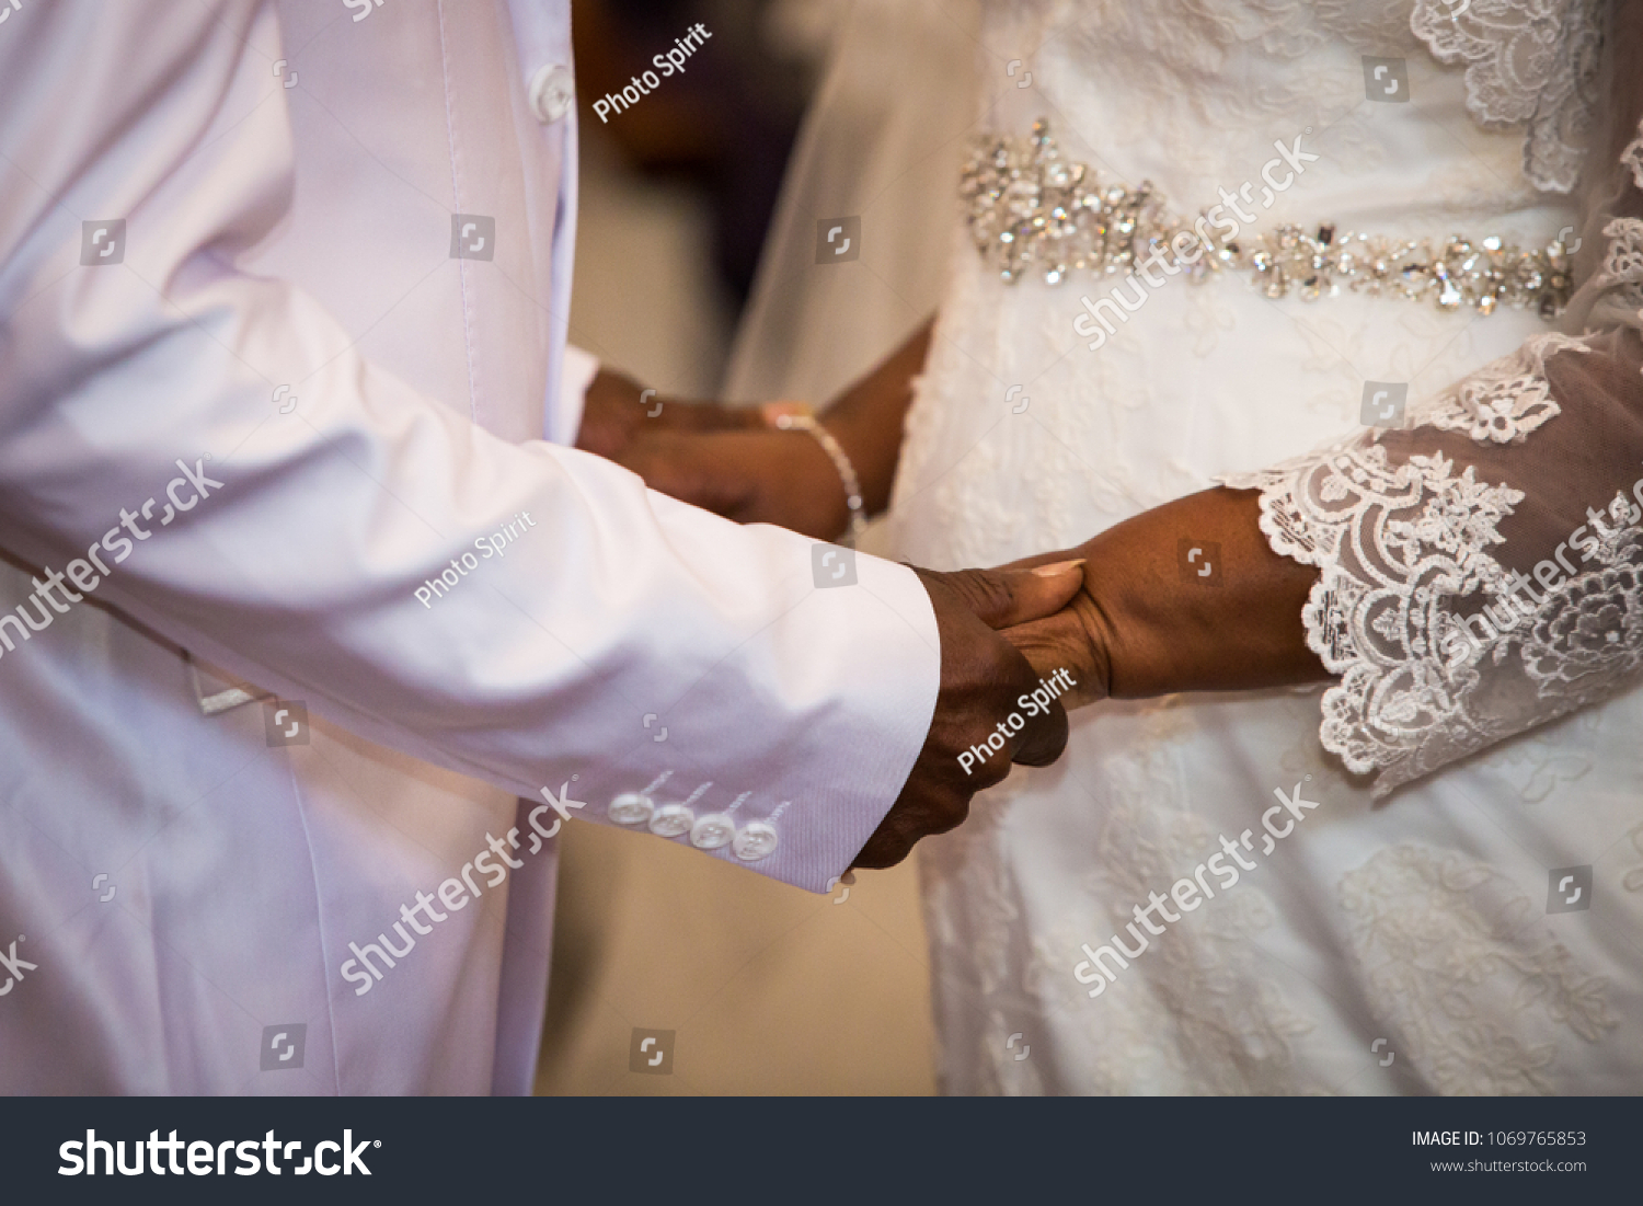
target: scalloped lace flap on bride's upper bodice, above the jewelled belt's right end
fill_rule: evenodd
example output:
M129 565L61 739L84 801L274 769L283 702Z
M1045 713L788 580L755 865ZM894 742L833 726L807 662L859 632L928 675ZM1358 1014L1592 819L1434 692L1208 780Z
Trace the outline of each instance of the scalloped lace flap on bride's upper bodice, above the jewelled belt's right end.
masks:
M1466 64L1467 110L1485 127L1526 125L1523 174L1569 192L1581 174L1607 0L1416 0L1410 28L1439 62Z

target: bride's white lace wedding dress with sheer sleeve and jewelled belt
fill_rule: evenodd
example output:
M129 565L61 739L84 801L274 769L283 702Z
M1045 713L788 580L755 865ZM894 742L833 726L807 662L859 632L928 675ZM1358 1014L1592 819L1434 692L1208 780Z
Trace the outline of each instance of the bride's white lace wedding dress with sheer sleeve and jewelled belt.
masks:
M1263 490L1273 547L1321 567L1306 623L1337 677L1076 713L1061 762L922 846L948 1091L1643 1091L1643 151L1607 128L1636 128L1612 18L986 7L971 220L895 552L992 565L1231 475ZM1587 153L1612 169L1581 176ZM1127 276L1114 248L1190 230L1222 189L1254 219L1236 268ZM1232 214L1201 228L1217 248ZM1428 250L1342 263L1355 232L1431 240L1447 279L1400 271ZM1559 237L1581 288L1548 320ZM1122 314L1093 320L1079 299L1114 288ZM1401 424L1364 426L1365 398L1397 399L1365 383L1406 384ZM1199 582L1178 536L1181 590L1239 572ZM1541 562L1521 618L1510 575ZM1227 884L1234 864L1254 869Z

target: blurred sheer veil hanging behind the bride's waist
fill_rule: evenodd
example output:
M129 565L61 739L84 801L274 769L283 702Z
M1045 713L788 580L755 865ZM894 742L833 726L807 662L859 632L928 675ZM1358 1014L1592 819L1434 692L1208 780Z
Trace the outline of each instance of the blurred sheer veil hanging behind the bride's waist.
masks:
M840 7L723 396L825 403L941 299L976 120L976 0ZM859 258L817 263L817 222L861 219Z

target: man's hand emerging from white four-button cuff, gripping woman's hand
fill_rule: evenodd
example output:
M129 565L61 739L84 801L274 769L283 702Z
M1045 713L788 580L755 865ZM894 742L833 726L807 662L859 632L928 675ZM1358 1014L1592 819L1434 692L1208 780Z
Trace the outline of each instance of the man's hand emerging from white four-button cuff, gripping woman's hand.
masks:
M918 761L891 812L856 854L858 868L887 868L907 858L920 838L946 833L969 815L969 797L1002 780L1010 762L1048 766L1066 746L1066 713L1012 730L1017 698L1038 685L1027 659L997 629L1055 615L1083 585L1083 562L1038 570L917 570L935 606L941 638L941 688ZM1004 746L986 761L960 754L984 748L994 734Z

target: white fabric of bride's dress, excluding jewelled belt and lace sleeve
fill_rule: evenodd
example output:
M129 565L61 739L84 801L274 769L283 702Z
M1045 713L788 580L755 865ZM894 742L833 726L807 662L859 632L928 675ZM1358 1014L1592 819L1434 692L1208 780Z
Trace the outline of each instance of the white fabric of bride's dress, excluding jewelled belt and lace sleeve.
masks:
M1474 123L1462 67L1439 64L1410 16L1410 0L994 3L981 125L1020 135L1047 117L1068 159L1152 179L1188 214L1245 181L1259 204L1273 143L1300 138L1321 158L1247 228L1551 242L1572 207L1525 181L1521 130ZM1364 56L1403 59L1406 102L1365 99ZM1006 286L956 219L951 265L892 514L897 552L941 568L1073 545L1351 430L1365 381L1408 383L1413 403L1546 330L1523 311L1171 278L1091 352L1079 296L1121 278ZM1060 764L1019 772L928 841L946 1088L1638 1091L1643 698L1380 808L1318 725L1309 690L1099 705L1075 716ZM1318 807L1262 853L1262 813L1296 789ZM1178 920L1137 927L1148 948L1088 996L1084 945L1117 933L1134 951L1134 907L1168 902L1244 831L1255 869L1191 912L1167 904ZM1589 909L1548 912L1549 872L1582 864Z

